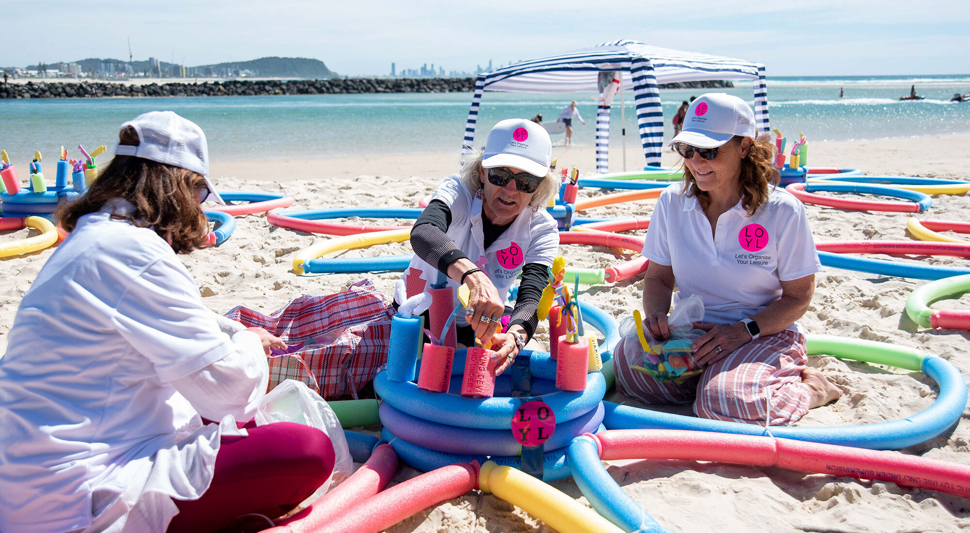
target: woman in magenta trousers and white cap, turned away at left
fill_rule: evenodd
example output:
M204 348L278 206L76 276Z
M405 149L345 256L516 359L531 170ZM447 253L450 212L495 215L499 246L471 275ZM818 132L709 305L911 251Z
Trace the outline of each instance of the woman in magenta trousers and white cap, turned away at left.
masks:
M285 345L206 309L178 261L207 241L199 204L221 203L205 134L148 112L122 125L114 154L59 212L71 234L0 359L0 531L215 531L281 516L327 480L334 449L307 425L248 423L265 354Z

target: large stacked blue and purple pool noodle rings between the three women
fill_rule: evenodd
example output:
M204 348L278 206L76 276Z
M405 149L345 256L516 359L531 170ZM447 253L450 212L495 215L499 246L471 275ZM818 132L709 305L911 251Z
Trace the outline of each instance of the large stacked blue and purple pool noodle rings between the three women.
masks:
M584 308L595 309L588 304ZM480 348L454 351L426 344L418 364L423 326L420 317L393 317L391 337L395 342L387 368L374 378L374 391L384 400L379 408L384 426L381 437L404 462L430 471L455 462L482 463L491 458L518 468L522 445L512 434L512 418L526 401L541 399L556 420L555 431L544 443L542 479L567 477L569 442L597 431L603 417L606 379L598 369L589 371L589 350L581 358L582 390L564 391L555 384L558 361L546 352L524 351L498 378L492 353ZM615 323L599 327L615 329ZM609 341L614 336L607 334L604 359L609 357Z

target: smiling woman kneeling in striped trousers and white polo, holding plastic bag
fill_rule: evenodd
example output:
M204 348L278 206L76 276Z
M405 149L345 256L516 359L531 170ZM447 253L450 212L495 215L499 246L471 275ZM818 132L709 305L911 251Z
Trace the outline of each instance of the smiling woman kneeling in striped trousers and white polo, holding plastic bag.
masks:
M659 382L631 369L621 346L617 388L647 403L693 401L708 419L797 422L840 394L806 366L797 322L821 269L805 210L776 187L773 145L756 137L754 112L740 98L701 95L669 144L684 158L684 180L663 191L650 219L644 326L669 336L675 284L678 299L702 298L695 327L707 332L691 348L704 371Z

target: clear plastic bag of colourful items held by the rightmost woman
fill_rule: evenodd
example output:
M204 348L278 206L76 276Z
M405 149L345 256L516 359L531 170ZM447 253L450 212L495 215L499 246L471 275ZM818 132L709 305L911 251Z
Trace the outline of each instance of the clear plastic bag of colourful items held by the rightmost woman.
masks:
M624 338L628 366L661 382L681 383L701 373L703 368L694 360L691 343L706 332L694 328L694 323L703 318L704 302L696 295L683 298L674 306L667 318L670 337L666 339L654 338L645 327L640 338L636 319L627 317L620 323L620 335Z

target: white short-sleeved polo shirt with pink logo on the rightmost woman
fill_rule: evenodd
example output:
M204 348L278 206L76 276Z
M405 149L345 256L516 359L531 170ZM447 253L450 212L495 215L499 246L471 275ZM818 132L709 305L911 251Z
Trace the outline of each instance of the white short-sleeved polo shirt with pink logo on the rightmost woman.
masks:
M681 183L663 190L650 217L643 255L672 266L680 297L704 300L704 322L732 324L781 298L781 281L822 269L804 206L782 188L754 216L738 202L718 218L714 235ZM801 332L795 322L788 329Z

